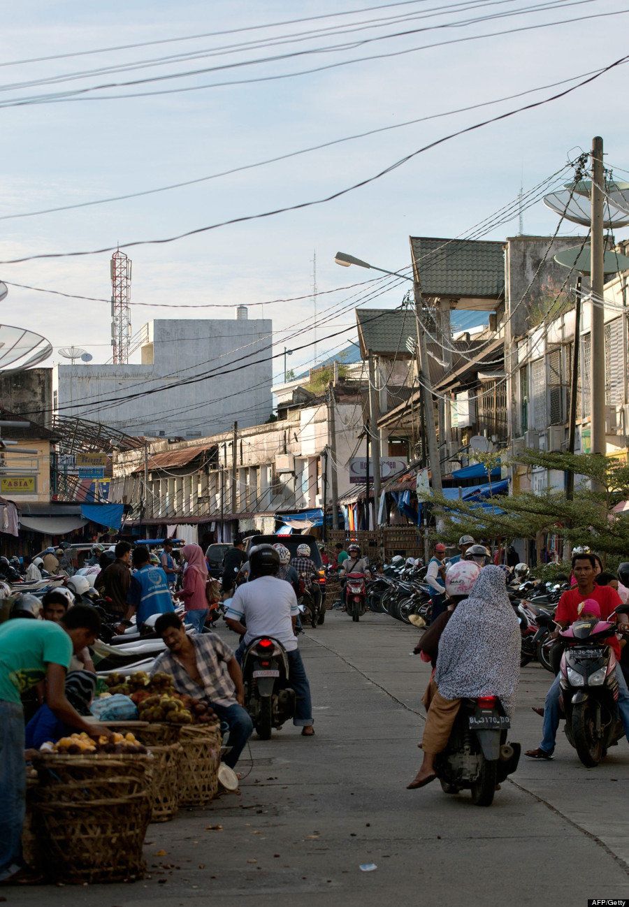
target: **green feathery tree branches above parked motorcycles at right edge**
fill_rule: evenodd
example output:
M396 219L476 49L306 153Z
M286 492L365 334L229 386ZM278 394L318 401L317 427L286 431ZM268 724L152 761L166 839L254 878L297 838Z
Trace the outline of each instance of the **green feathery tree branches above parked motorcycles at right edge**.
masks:
M444 511L447 538L454 541L469 532L485 539L531 539L538 532L555 532L601 553L629 555L629 518L613 512L615 503L629 498L629 466L602 454L531 450L512 457L511 463L575 473L574 500L566 501L560 492L522 492L491 497L483 506L433 495L432 502ZM591 479L602 486L601 492L590 490Z

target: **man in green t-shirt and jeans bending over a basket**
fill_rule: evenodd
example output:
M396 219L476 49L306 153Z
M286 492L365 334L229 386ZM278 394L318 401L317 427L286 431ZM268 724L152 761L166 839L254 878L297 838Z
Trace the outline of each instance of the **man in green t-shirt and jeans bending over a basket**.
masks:
M32 598L20 596L12 619L0 626L0 883L23 879L26 774L20 694L45 680L45 701L56 717L93 737L111 735L108 728L85 721L64 690L73 651L93 646L98 636L101 621L97 611L89 605L74 605L55 624L34 619L33 610L20 610L20 600Z

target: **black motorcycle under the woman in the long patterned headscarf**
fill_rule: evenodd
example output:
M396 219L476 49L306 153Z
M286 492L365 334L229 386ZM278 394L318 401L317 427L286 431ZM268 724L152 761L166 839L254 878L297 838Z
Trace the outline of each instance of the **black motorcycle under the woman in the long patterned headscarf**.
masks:
M490 806L496 785L517 768L521 746L506 743L511 726L496 696L462 699L446 749L435 759L435 772L445 794L468 789L472 803Z

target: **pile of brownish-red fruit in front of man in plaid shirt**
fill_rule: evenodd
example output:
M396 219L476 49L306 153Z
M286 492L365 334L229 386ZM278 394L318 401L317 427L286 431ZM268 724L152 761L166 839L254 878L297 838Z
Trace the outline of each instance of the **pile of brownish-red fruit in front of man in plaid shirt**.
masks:
M177 693L170 674L158 672L149 677L138 671L130 677L110 674L105 683L111 694L123 693L138 707L141 721L170 721L176 725L210 725L217 719L215 713L201 699Z

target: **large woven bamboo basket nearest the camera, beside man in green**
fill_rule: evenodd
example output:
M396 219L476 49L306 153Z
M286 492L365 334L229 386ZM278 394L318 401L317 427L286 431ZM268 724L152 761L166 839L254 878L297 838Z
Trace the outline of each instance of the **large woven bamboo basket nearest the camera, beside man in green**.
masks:
M47 875L64 883L142 878L152 762L140 754L35 760L34 827Z

